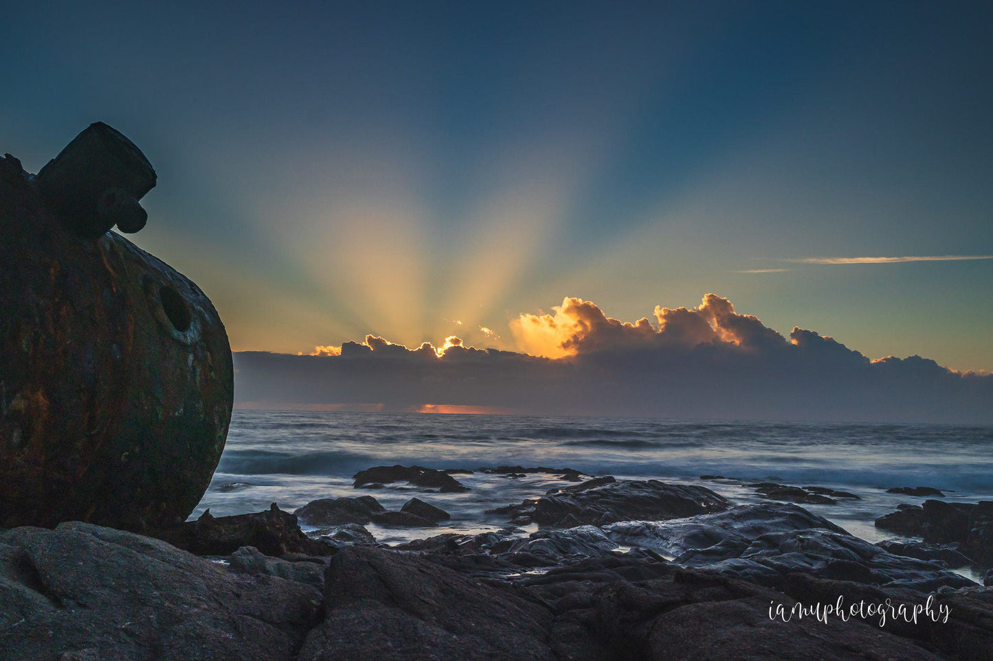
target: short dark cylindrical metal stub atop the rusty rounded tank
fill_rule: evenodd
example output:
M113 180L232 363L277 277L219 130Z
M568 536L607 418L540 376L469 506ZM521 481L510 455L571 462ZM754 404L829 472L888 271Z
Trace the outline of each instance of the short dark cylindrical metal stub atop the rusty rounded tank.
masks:
M75 136L36 178L53 213L83 238L101 236L115 224L128 233L144 227L148 213L138 200L155 180L141 150L103 122Z

